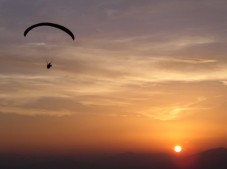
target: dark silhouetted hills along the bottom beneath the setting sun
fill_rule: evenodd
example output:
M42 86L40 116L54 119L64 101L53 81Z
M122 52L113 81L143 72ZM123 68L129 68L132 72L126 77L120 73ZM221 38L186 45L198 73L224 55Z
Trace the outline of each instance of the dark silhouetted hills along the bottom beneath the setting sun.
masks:
M215 148L176 157L168 154L122 153L97 156L0 155L1 169L227 169L227 149Z

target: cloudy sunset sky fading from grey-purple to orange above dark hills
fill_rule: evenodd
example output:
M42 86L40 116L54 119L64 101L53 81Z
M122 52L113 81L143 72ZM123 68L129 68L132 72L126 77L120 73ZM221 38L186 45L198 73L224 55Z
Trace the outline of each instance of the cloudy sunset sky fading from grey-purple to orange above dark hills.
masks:
M227 147L226 35L225 0L0 0L0 152Z

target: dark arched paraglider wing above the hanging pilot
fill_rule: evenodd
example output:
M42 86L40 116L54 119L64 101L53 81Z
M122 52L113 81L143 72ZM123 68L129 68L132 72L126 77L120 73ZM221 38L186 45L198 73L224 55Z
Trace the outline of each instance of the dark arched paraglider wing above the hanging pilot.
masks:
M28 27L25 31L24 31L24 36L26 36L28 34L28 32L30 30L32 30L33 28L39 27L39 26L51 26L51 27L55 27L58 29L61 29L62 31L66 32L69 36L71 36L71 38L74 40L74 34L66 27L59 25L59 24L55 24L55 23L50 23L50 22L42 22L42 23L37 23L35 25L32 25L30 27Z

